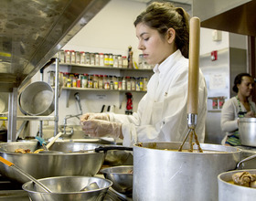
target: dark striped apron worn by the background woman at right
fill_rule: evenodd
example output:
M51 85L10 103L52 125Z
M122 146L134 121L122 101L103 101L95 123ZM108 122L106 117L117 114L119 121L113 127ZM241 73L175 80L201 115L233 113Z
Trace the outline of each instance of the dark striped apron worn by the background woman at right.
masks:
M238 100L239 109L240 109L240 111L238 113L238 117L243 118L244 115L247 113L247 111L241 111L239 97L236 96L236 98ZM253 110L253 108L251 106L251 103L250 103L250 108L251 108L251 111L253 111L255 113L255 111ZM231 146L240 146L241 145L241 143L240 143L240 132L239 132L238 129L235 132L233 132L231 135L228 136L226 144L229 144Z

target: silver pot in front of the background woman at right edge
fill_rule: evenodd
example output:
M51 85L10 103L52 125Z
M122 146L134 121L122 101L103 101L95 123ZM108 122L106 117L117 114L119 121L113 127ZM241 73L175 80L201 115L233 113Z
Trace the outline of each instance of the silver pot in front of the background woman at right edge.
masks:
M256 147L256 118L240 118L240 143Z

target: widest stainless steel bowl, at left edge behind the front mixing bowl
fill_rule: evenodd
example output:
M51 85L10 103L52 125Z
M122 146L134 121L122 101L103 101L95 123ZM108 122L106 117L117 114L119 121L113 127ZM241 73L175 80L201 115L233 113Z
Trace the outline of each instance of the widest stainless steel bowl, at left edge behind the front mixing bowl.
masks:
M91 150L101 146L97 143L54 143L50 150L76 152ZM15 153L17 148L30 149L32 152L41 148L37 142L0 143L0 156L16 164L27 174L35 178L45 178L61 175L93 176L103 164L104 152L90 153ZM15 170L5 164L0 164L0 174L19 183L29 180L18 175Z

